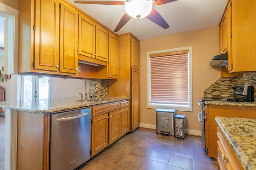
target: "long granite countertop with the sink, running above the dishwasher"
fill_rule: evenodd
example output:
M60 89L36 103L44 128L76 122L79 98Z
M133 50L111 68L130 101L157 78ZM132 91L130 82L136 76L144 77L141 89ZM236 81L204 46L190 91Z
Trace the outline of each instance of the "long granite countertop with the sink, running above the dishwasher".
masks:
M99 99L102 99L102 98L99 98ZM105 98L105 100L96 101L96 102L79 102L80 99L78 97L65 97L65 98L51 99L50 108L47 108L47 109L24 108L20 106L20 103L22 103L21 101L0 102L0 107L17 110L17 111L24 111L28 113L53 113L53 112L70 110L70 109L79 109L82 107L90 107L98 104L106 104L110 102L129 100L129 99L130 98L126 96L116 96L116 97L109 97L107 99Z

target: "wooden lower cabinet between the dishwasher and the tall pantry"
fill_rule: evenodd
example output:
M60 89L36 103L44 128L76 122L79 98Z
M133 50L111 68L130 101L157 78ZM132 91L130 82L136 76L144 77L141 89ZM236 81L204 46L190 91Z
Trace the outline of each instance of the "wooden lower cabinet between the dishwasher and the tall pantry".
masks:
M128 132L129 100L92 107L91 157Z

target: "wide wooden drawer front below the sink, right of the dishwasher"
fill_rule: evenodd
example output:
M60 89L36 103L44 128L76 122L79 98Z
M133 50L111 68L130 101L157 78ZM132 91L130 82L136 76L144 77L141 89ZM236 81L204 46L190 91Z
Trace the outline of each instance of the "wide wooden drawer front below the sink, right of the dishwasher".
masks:
M92 107L92 117L104 113L109 113L110 111L114 111L116 109L120 109L120 102L98 105Z

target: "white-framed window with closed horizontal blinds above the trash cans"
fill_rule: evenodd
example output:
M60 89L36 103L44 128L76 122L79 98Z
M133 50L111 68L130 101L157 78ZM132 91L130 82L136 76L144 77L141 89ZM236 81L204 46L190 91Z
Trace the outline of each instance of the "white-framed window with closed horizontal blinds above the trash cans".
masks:
M148 53L148 108L192 111L192 47Z

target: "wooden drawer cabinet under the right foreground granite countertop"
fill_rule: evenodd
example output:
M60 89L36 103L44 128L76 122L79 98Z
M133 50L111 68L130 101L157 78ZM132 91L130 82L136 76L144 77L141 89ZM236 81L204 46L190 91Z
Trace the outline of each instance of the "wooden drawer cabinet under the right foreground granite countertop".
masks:
M217 127L218 136L218 170L243 170L241 163L239 162L228 141L224 138L224 134Z

